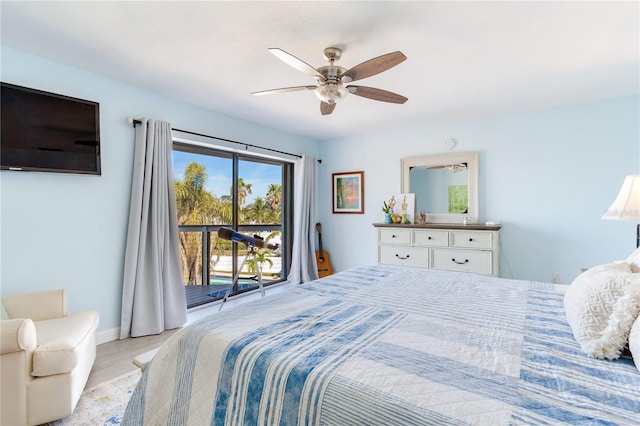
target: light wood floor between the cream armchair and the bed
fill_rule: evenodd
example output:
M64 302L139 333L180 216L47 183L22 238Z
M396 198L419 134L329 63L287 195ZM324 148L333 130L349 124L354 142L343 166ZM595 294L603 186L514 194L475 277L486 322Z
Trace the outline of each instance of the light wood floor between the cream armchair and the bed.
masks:
M85 388L107 382L138 369L133 358L141 353L159 348L178 329L168 330L155 336L130 337L98 345L96 361Z

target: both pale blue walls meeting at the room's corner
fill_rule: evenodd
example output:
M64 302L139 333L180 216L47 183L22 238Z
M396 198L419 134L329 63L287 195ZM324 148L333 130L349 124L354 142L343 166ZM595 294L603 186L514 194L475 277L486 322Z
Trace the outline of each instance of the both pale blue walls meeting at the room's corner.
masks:
M69 309L119 326L133 129L125 117L315 155L318 220L334 269L375 263L382 201L400 193L400 158L480 153L480 216L500 220L503 276L570 282L580 268L622 259L635 224L604 221L623 178L640 173L638 96L499 117L441 122L318 142L2 48L2 81L100 102L100 177L0 172L2 294L66 288ZM365 172L365 214L331 213L331 174Z

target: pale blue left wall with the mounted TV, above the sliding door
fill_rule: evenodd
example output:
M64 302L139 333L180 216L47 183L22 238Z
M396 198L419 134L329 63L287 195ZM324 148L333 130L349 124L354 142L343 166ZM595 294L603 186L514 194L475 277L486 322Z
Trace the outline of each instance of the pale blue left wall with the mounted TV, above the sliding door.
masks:
M100 102L102 175L0 172L2 294L65 288L70 311L120 325L134 131L126 117L317 155L318 142L2 48L2 81Z

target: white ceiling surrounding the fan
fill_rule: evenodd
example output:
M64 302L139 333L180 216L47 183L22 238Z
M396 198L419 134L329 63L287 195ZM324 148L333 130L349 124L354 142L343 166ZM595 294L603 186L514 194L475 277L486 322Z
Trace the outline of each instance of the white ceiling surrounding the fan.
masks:
M638 94L639 2L1 2L2 44L317 139ZM314 67L395 50L407 60L320 114ZM176 123L176 126L179 127ZM194 129L195 130L195 129Z

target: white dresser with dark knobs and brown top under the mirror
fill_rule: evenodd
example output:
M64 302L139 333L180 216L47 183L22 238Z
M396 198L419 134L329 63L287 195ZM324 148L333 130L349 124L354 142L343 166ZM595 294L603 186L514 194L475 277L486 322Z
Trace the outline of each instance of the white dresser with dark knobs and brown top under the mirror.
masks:
M378 263L500 276L500 226L374 223Z

